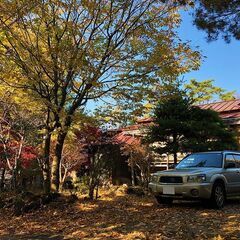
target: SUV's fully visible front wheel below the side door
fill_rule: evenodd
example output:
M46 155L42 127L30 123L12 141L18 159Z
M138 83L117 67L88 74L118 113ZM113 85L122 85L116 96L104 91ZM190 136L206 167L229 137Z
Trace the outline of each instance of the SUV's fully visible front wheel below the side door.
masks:
M224 207L226 200L225 188L222 183L215 183L212 188L211 204L214 208Z

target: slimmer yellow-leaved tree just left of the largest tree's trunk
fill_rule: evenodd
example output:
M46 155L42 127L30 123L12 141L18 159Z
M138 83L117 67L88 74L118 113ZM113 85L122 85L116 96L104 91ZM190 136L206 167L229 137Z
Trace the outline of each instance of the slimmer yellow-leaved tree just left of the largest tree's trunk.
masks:
M10 66L11 64L9 64ZM3 67L3 65L1 65ZM12 68L12 66L11 66ZM16 68L9 69L9 73L0 72L0 79L7 79L9 82L20 81L21 77ZM28 144L39 149L39 163L43 170L44 191L50 191L50 141L51 141L51 116L49 108L45 108L44 102L27 89L15 87L9 84L0 84L0 112L4 117L8 113L12 115L12 121L20 123L20 119L28 126ZM25 119L25 120L23 120ZM20 126L19 126L20 127ZM42 143L42 144L41 144ZM41 144L41 145L40 145Z

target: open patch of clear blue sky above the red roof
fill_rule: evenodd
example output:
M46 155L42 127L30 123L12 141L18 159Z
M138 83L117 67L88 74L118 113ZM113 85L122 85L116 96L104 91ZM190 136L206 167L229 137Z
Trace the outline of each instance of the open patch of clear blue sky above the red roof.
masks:
M182 25L179 29L183 40L191 40L192 46L199 46L206 56L198 71L184 75L185 80L192 78L198 81L214 79L215 85L227 90L237 90L240 94L240 41L232 40L230 44L219 40L206 41L206 33L192 24L189 13L182 14Z

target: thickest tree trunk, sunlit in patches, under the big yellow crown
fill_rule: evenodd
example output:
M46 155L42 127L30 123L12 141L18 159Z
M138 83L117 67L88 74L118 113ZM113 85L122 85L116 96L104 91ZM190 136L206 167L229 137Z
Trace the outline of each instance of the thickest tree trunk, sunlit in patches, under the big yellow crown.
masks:
M59 170L60 170L60 163L62 159L62 150L63 144L66 138L67 132L60 132L58 134L57 143L54 150L54 157L52 162L52 177L51 177L51 189L54 192L59 191Z

